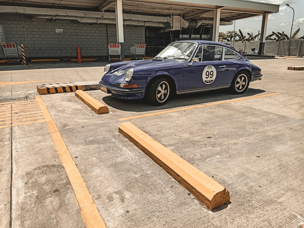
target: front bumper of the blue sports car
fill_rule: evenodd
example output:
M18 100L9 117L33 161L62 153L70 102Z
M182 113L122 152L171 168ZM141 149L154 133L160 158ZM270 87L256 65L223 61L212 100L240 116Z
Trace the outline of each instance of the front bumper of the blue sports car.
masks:
M107 89L107 93L112 94L112 96L121 99L140 99L143 98L145 89L143 88L117 88L112 85L104 83L102 80L99 81L100 86L104 86ZM103 91L105 92L105 91Z

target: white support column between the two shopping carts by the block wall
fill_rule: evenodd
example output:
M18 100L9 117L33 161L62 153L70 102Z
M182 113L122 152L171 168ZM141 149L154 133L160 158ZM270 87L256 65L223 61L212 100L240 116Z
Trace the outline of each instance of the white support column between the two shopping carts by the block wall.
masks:
M121 59L125 59L124 53L124 41L123 41L123 3L122 0L115 1L115 12L116 12L116 35L117 43L121 44L120 55Z

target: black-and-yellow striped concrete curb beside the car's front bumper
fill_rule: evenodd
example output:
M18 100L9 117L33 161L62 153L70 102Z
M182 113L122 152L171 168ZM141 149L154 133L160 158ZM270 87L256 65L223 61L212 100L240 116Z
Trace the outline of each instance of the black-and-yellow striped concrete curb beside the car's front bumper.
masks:
M40 84L37 85L37 92L40 95L54 94L54 93L69 93L76 90L98 90L100 85L98 81L85 81L74 83L57 83L57 84Z

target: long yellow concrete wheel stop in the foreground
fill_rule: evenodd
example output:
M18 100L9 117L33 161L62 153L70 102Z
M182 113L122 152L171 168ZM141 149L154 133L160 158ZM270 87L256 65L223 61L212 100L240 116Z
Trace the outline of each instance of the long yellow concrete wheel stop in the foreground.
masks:
M167 171L210 210L230 201L228 190L199 169L174 154L130 122L119 132Z

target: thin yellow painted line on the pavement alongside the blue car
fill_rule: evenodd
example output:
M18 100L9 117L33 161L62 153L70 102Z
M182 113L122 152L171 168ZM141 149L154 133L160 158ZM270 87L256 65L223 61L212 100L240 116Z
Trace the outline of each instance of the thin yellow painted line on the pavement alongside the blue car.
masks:
M240 98L240 99L232 99L232 100L227 100L227 101L205 103L205 104L200 104L200 105L195 105L195 106L185 107L185 108L180 108L180 109L171 109L171 110L167 110L167 111L163 111L163 112L154 112L154 113L149 113L149 114L144 114L144 115L119 118L118 120L123 121L123 120L129 120L129 119L136 119L136 118L141 118L141 117L160 115L160 114L169 113L169 112L178 112L178 111L187 110L187 109L201 108L201 107L205 107L205 106L209 106L209 105L218 105L218 104L224 104L224 103L230 103L230 102L236 102L236 101L243 101L243 100L249 100L249 99L260 98L260 97L267 97L267 96L278 95L278 94L280 94L280 93L271 93L271 94L265 94L265 95L254 96L254 97L244 97L244 98Z

